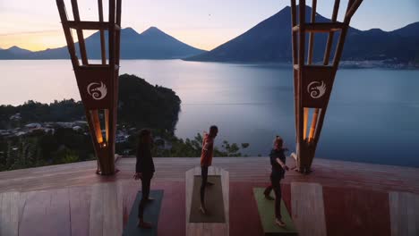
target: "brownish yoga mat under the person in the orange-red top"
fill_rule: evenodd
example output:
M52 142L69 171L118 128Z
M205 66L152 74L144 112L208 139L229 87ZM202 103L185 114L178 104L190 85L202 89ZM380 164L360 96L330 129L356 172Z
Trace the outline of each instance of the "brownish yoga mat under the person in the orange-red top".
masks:
M203 215L200 211L201 175L195 175L193 178L190 223L226 223L221 176L209 175L208 181L214 183L214 185L206 187L205 206L207 207L207 214Z

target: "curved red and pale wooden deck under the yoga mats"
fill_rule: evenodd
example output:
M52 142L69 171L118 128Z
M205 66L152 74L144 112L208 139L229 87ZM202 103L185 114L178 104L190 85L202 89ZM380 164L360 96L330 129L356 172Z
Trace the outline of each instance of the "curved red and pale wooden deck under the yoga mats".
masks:
M184 173L199 159L154 160L151 188L165 191L158 235L185 235ZM230 235L262 235L252 188L269 183L268 157L219 157L213 165L229 173ZM0 173L0 235L121 235L141 188L134 166L121 158L112 177L95 174L95 161ZM282 181L300 235L419 235L419 169L320 158L312 168Z

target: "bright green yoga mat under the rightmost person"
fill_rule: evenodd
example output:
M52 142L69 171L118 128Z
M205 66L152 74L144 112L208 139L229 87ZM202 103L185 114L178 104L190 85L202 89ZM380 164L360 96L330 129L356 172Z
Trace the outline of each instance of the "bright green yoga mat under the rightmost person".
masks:
M262 188L254 188L253 194L258 205L259 217L261 218L261 224L265 235L298 235L295 229L293 219L288 213L284 201L281 200L281 215L282 221L286 223L285 227L279 227L275 223L275 200L268 200L263 195ZM275 194L273 191L270 196L274 198Z

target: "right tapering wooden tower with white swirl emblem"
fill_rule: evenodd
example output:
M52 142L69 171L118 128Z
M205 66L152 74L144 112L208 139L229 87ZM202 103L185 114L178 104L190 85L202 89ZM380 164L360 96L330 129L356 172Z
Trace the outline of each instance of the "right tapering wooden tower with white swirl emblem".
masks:
M349 22L362 2L363 0L349 0L344 21L340 22L337 21L340 0L335 0L331 21L316 22L317 0L312 0L311 19L307 22L305 0L299 0L299 5L295 4L295 0L291 0L296 162L297 171L301 173L311 172L312 159L321 136ZM329 34L321 64L314 64L312 60L316 33ZM338 35L338 42L333 46L335 35ZM305 43L307 36L308 46ZM332 47L335 47L335 53L330 63ZM310 124L309 116L312 117Z

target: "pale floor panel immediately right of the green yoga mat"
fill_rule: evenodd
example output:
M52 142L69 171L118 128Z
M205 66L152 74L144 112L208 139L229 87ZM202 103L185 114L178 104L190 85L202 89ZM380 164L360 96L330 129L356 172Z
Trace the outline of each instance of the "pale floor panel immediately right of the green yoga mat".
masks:
M326 235L323 194L320 184L291 183L292 215L299 235Z

